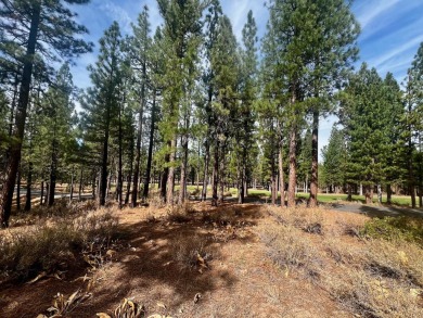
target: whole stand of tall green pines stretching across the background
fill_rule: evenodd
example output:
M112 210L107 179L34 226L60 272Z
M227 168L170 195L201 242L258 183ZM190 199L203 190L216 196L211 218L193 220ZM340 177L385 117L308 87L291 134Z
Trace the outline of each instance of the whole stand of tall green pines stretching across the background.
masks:
M157 0L163 24L151 30L146 7L130 36L113 23L79 90L69 63L93 44L69 4L87 2L0 1L1 226L14 194L22 208L23 183L26 211L35 188L54 204L57 182L70 199L90 189L119 206L148 198L152 182L167 204L183 203L189 182L203 200L210 186L214 205L230 186L243 203L257 183L270 185L272 203L286 189L289 206L299 182L310 206L319 183L421 196L423 46L405 91L366 64L354 73L360 27L348 1L268 1L264 38L249 12L239 43L219 0ZM319 119L334 113L341 128L319 178Z

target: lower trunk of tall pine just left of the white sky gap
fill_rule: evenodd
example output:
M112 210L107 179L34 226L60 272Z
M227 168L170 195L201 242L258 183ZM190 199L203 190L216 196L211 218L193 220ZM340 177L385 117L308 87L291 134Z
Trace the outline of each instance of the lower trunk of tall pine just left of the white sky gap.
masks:
M317 107L312 114L312 137L311 137L311 185L309 207L318 206L319 191L319 110Z

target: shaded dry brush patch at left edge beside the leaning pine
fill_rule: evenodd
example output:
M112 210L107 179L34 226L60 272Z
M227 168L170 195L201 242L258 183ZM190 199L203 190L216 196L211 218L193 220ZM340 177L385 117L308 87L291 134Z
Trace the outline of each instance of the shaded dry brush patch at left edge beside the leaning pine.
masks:
M39 272L65 270L93 242L110 242L118 220L108 209L49 219L41 226L0 237L1 280L27 279Z

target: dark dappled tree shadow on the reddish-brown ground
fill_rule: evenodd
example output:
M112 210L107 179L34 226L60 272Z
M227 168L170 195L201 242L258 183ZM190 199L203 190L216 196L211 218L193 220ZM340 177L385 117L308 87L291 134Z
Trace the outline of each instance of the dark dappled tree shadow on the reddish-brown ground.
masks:
M256 205L225 203L217 208L190 212L180 221L162 217L120 225L125 237L121 250L97 271L97 282L90 290L92 296L66 317L113 313L125 297L145 305L148 315L175 314L182 304L194 306L197 293L231 289L238 278L233 269L220 266L227 260L221 250L229 243L245 244L255 239L249 229L262 217L259 209ZM57 292L69 296L86 285L87 282L75 281L74 275L72 280L49 279L34 285L1 289L4 295L20 297L20 304L34 303L5 314L34 317L51 305ZM11 302L11 297L7 301ZM165 306L157 307L157 302Z

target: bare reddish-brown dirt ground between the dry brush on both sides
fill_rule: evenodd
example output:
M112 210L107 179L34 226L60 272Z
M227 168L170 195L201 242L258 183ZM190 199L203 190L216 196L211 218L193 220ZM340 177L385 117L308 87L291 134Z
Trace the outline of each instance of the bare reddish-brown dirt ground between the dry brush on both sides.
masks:
M167 214L152 207L119 212L125 237L103 264L75 262L62 280L0 287L0 317L37 317L57 293L67 298L78 290L87 298L65 317L112 316L124 298L144 306L145 317L357 317L321 284L267 257L259 229L272 220L265 206L195 203L187 216ZM329 225L367 219L331 211L324 218Z

